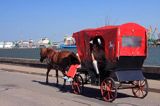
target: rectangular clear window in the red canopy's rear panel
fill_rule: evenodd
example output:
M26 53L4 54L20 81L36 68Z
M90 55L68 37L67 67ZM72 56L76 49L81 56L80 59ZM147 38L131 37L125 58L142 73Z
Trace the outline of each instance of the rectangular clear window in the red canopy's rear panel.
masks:
M142 38L140 36L123 36L122 46L123 47L140 47Z

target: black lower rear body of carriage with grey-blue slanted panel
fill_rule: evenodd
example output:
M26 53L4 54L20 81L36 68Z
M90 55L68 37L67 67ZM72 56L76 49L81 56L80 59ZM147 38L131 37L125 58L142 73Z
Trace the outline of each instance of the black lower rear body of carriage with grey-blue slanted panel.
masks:
M122 56L117 60L117 63L111 72L114 80L117 81L135 81L144 80L143 62L145 56ZM112 67L113 68L113 67ZM106 70L107 71L107 70ZM116 76L116 77L115 77Z

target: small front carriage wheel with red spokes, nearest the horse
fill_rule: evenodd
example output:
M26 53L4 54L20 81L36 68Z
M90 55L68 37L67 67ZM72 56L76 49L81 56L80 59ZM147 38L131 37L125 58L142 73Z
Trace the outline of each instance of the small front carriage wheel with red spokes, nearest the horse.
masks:
M83 78L77 74L72 81L72 89L75 94L81 94L83 91Z

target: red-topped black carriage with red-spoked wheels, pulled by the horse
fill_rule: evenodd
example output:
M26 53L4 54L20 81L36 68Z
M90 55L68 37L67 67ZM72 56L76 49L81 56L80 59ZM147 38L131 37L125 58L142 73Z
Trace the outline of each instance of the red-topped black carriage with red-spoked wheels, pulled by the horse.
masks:
M117 89L130 88L138 98L144 98L148 94L148 83L142 73L142 65L147 56L144 27L136 23L104 26L76 32L73 37L81 59L81 68L72 82L74 93L82 93L84 84L91 83L99 85L103 99L110 102L115 100ZM93 74L91 59L90 42L95 39L100 39L107 59L106 68L99 70L102 74L98 77Z

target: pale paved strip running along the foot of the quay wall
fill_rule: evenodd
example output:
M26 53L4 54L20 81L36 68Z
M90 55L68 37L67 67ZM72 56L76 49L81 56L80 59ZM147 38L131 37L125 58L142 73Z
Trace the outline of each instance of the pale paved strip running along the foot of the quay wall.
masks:
M43 76L46 75L45 68L35 68L35 67L29 67L29 66L0 63L0 69L9 71L9 72L21 72L26 74L35 74L35 75L43 75ZM60 72L59 72L59 75L62 76ZM49 76L55 76L55 71L51 70ZM160 93L160 80L148 79L148 84L149 84L150 92Z

